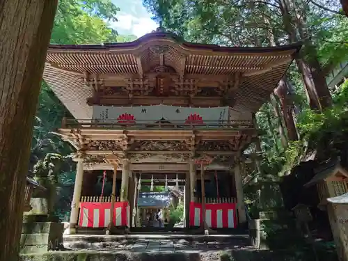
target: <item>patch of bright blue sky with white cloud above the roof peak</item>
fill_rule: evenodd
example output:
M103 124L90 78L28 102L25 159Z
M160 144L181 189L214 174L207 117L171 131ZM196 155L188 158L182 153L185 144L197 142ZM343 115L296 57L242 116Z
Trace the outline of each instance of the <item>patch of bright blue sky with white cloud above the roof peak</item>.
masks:
M143 7L142 0L112 0L120 12L118 22L111 23L119 34L134 34L141 37L155 30L158 25L151 19L152 15Z

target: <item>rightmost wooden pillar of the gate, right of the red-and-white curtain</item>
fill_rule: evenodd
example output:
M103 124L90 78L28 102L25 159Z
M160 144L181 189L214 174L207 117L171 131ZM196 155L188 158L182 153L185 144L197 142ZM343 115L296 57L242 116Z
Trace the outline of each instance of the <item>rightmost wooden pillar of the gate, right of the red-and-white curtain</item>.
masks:
M245 213L245 206L244 206L241 162L239 161L239 159L237 159L237 162L235 163L234 176L235 176L235 186L236 186L236 194L237 194L238 219L239 219L239 223L245 223L246 213Z

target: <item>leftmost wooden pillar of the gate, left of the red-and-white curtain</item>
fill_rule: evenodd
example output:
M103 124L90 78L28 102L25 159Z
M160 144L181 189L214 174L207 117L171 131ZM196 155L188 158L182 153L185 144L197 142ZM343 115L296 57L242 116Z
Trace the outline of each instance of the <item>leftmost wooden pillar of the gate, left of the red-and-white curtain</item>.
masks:
M81 155L79 155L74 160L77 161L77 167L76 167L76 177L75 177L75 184L74 184L74 194L72 196L71 213L70 213L70 234L74 234L76 232L75 228L78 223L77 219L79 218L82 182L84 180L84 158L81 157Z

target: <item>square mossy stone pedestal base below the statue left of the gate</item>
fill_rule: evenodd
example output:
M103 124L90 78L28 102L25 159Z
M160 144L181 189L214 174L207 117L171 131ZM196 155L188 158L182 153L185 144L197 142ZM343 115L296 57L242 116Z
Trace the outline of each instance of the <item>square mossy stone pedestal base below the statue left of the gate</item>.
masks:
M63 223L24 222L20 253L46 253L63 246Z

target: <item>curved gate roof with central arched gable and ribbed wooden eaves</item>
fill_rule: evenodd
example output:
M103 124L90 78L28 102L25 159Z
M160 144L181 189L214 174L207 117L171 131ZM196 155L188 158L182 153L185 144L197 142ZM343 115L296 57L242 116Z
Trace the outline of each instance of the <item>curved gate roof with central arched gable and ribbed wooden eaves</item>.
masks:
M238 111L258 111L269 99L301 49L281 47L220 47L184 42L171 33L149 33L134 42L104 45L50 45L43 78L75 118L90 118L86 100L93 88L86 75L138 77L166 65L180 77L234 77L231 97ZM217 78L219 78L217 77ZM97 82L97 77L95 77Z

